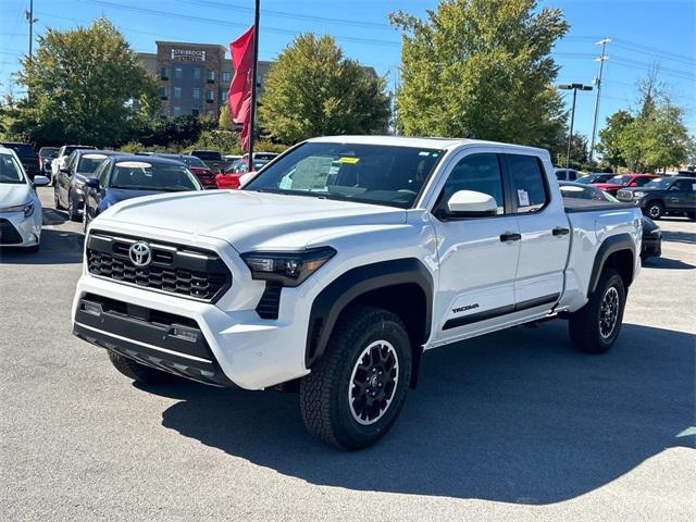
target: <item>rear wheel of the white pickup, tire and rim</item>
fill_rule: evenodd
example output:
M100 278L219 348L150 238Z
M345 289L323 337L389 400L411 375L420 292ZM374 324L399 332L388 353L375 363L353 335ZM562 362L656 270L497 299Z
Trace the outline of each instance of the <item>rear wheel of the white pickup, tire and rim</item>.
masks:
M626 291L619 273L605 270L587 303L570 315L568 326L575 349L585 353L609 350L621 331L625 300Z

